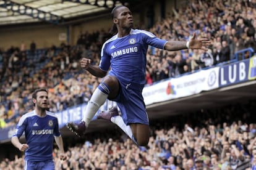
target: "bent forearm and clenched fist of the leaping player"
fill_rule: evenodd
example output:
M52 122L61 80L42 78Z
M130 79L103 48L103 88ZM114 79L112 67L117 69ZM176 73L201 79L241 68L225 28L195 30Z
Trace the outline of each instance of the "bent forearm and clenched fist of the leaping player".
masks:
M80 60L80 66L83 68L83 70L89 71L93 76L103 78L106 76L106 71L103 71L100 69L100 67L96 65L91 65L91 60L83 58Z

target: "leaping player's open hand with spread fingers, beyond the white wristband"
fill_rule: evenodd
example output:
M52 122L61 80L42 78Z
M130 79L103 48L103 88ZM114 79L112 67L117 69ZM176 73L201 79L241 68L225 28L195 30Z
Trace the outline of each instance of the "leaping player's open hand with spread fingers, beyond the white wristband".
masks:
M189 41L190 49L202 49L203 51L208 50L208 46L211 44L208 38L195 39L195 33Z

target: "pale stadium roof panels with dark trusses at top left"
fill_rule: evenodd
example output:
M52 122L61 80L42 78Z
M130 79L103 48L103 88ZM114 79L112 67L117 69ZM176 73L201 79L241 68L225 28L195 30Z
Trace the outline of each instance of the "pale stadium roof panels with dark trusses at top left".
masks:
M0 25L29 22L66 23L72 18L108 12L129 1L116 0L1 0Z

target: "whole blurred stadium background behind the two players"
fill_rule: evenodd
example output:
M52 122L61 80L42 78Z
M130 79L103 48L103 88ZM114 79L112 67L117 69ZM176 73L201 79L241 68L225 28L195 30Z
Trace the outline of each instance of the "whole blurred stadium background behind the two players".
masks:
M119 5L132 11L134 28L159 38L189 41L196 33L212 42L207 52L148 47L145 150L108 121L93 121L85 138L65 126L82 118L101 81L79 60L98 65ZM69 156L61 162L54 150L56 169L254 169L255 28L255 0L0 1L0 169L23 169L10 140L38 87L49 91Z

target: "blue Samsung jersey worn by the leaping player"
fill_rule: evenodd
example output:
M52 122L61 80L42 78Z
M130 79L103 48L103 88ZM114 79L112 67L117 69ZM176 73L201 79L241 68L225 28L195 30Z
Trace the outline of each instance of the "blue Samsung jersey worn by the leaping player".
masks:
M103 44L101 49L101 70L119 80L145 84L148 45L163 49L166 40L157 38L144 30L131 30L130 34L118 38L117 34Z

